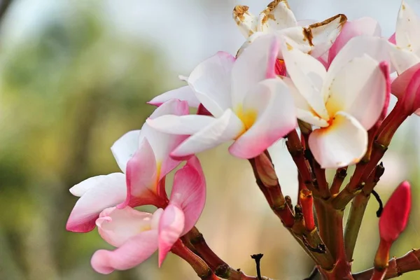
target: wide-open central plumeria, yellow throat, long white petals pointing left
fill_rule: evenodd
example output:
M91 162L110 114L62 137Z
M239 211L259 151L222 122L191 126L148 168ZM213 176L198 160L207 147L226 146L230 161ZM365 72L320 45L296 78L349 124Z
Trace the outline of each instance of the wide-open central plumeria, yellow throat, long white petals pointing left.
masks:
M147 123L161 132L191 135L171 153L175 158L232 140L232 155L254 158L296 127L293 98L274 73L278 53L279 41L271 35L258 38L237 59L218 52L188 78L214 117L168 115Z

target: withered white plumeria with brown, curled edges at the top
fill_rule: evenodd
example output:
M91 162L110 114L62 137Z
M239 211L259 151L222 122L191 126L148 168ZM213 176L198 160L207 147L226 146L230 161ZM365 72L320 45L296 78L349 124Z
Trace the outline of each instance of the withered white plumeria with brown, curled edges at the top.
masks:
M297 22L287 0L272 1L258 17L249 12L248 6L236 6L233 18L247 39L238 54L255 38L269 33L288 36L294 48L299 48L314 57L323 55L331 47L347 20L345 15L335 15L323 22L302 27L300 23L305 22ZM281 54L279 55L281 58Z

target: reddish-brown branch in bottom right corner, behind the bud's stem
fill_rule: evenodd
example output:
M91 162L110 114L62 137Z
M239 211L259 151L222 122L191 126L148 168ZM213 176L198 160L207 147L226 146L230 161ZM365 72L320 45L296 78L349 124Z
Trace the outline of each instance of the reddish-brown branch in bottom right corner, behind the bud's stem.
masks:
M389 260L384 279L395 278L414 270L420 270L420 251L418 249L412 249L401 258L394 257ZM353 274L353 278L355 280L369 280L373 271L373 268L367 269L364 272Z

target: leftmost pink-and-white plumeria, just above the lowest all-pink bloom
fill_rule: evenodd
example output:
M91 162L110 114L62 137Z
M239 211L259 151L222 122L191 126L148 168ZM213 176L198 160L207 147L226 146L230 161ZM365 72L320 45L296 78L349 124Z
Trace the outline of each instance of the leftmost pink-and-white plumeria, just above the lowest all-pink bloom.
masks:
M170 100L158 107L151 118L166 114L186 115L188 104ZM180 163L170 158L169 153L185 138L157 132L147 124L141 130L123 135L111 147L123 173L94 176L73 186L70 192L80 198L71 211L66 229L72 232L93 230L99 213L109 207L165 204L162 179Z

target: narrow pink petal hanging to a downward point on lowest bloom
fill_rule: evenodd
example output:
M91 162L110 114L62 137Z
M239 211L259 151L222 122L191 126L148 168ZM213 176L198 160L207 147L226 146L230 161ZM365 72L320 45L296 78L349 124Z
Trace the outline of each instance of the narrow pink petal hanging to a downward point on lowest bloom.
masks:
M185 225L185 217L183 211L173 205L163 211L159 222L159 267L165 260L167 253L171 251L176 240L181 237Z

